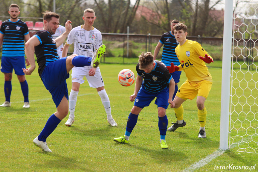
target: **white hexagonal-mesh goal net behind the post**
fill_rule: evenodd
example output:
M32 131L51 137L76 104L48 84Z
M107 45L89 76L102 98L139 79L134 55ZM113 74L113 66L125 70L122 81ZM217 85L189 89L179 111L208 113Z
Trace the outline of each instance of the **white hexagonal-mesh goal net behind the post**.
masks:
M235 1L232 40L229 148L258 153L258 0Z

